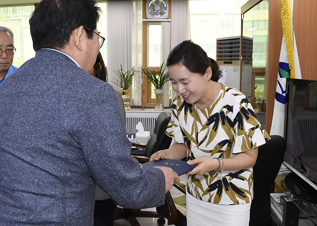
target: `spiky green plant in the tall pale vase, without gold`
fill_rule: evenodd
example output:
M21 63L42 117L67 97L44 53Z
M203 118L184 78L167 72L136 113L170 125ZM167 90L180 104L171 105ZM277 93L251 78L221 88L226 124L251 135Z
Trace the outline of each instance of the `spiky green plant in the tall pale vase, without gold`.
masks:
M170 80L169 73L165 72L165 68L163 68L163 64L164 62L162 63L158 74L156 74L156 72L151 68L148 68L145 66L142 66L141 68L143 74L148 79L146 84L148 82L151 82L155 88L154 93L156 96L156 106L154 110L163 110L163 95L164 95L163 86L167 81Z

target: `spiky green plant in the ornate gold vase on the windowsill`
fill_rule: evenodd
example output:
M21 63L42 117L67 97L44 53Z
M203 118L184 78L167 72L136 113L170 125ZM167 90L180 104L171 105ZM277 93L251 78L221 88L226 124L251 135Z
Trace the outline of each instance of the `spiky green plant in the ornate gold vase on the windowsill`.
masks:
M123 72L122 65L120 64L120 69L117 68L116 71L114 71L118 75L118 79L115 79L113 81L116 85L119 85L122 90L121 96L123 98L124 108L125 110L131 110L131 107L129 106L131 102L131 98L129 97L130 93L130 86L132 85L134 74L137 72L137 70L130 69L126 72Z

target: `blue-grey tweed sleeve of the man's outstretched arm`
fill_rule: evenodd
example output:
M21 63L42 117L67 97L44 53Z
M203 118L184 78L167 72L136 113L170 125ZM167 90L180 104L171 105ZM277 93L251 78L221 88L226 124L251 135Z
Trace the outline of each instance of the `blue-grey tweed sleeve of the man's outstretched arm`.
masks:
M95 183L120 206L156 207L165 199L165 177L158 169L143 170L131 152L131 142L113 88L96 85L80 119L80 142Z

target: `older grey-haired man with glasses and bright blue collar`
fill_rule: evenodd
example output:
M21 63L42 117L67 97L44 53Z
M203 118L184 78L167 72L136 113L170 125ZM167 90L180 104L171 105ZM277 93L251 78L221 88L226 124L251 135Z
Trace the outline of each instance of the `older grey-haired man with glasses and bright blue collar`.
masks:
M12 65L14 47L13 33L9 28L0 26L0 85L17 67Z

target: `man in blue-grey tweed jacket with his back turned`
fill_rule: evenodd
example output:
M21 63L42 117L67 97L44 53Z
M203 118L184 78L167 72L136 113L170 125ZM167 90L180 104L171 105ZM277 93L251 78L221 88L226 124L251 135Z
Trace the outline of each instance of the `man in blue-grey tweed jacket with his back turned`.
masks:
M30 17L36 56L0 86L0 225L93 225L95 184L141 209L179 181L131 157L115 91L86 72L101 46L95 4L42 0Z

